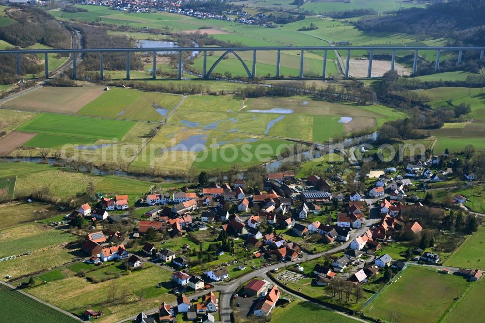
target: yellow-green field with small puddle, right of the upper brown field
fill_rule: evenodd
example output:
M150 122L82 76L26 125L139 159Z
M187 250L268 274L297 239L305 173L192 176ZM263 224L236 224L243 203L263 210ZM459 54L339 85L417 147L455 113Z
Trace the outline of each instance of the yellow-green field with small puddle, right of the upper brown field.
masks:
M78 113L116 119L162 121L181 98L159 92L111 88ZM156 109L160 109L160 113Z

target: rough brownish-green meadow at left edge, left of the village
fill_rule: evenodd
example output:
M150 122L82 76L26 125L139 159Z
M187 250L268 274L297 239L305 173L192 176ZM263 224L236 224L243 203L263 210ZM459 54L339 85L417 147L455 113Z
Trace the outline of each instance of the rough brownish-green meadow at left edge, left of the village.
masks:
M56 214L56 206L43 202L0 204L0 229L46 219Z

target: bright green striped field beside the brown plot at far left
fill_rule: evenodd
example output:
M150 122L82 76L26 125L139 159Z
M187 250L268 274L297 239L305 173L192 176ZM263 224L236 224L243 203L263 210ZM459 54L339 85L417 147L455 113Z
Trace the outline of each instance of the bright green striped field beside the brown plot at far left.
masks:
M17 130L37 133L24 146L60 148L66 144L92 144L99 139L119 140L134 124L131 121L42 113Z

